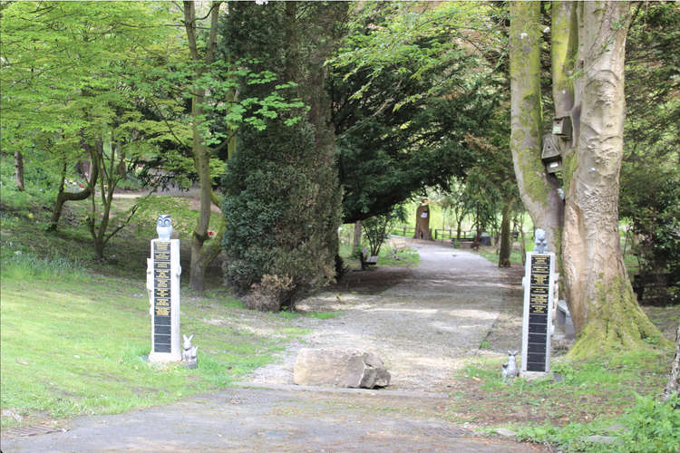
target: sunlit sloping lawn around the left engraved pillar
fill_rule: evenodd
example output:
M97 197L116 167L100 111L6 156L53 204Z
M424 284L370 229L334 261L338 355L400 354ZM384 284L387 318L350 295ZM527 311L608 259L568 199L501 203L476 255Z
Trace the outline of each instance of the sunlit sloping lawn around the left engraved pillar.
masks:
M181 332L195 334L199 367L153 364L144 359L151 325L141 279L90 275L67 260L24 254L5 261L2 273L4 429L219 389L306 333L274 314L248 323L234 299L182 294Z

